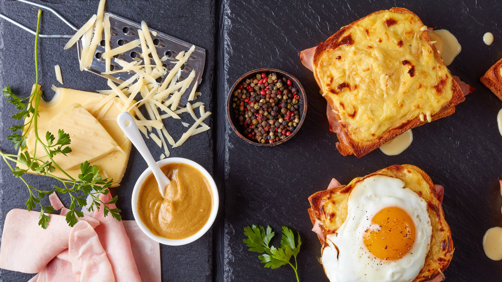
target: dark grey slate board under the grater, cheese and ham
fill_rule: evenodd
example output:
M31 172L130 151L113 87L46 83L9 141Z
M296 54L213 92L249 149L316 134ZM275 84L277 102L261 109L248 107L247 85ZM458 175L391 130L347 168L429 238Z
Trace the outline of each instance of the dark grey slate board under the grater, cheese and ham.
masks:
M98 1L37 1L58 11L75 26L82 26L88 18L97 11ZM212 1L107 1L106 11L141 23L147 22L149 27L193 43L206 50L206 66L199 91L200 98L206 104L206 110L213 108L214 81L214 50L215 50L215 3ZM0 11L16 21L35 29L37 9L15 1L1 1ZM73 34L74 32L57 19L52 13L45 12L42 18L41 33ZM35 81L34 67L35 37L20 28L0 22L0 85L9 84L17 93L29 93ZM80 72L76 48L63 51L67 39L41 39L39 41L40 84L50 99L53 95L51 85L62 86L85 91L108 89L106 80L89 72ZM64 85L56 81L54 65L59 64L63 72ZM14 124L10 116L15 108L5 99L0 100L0 148L14 153L12 144L6 140L9 127ZM184 121L193 123L191 117L185 116ZM171 124L171 123L169 123ZM179 122L177 126L168 126L175 139L181 137L186 127ZM212 126L212 117L207 119ZM151 139L147 140L155 159L163 152ZM190 138L182 147L170 150L172 157L191 159L202 165L210 173L213 172L213 142L212 131L208 130ZM122 218L131 220L131 193L139 175L147 168L145 161L132 150L126 174L119 188L113 189L118 194L118 208L122 210ZM51 187L52 182L47 177L28 176L27 180L34 186ZM25 208L28 191L24 184L15 179L10 169L0 165L0 228L9 210ZM48 199L45 199L48 204ZM64 196L67 203L69 199ZM67 203L68 204L68 203ZM212 280L212 230L194 243L185 246L162 246L162 279L169 281L211 281ZM34 274L0 269L0 281L26 281Z

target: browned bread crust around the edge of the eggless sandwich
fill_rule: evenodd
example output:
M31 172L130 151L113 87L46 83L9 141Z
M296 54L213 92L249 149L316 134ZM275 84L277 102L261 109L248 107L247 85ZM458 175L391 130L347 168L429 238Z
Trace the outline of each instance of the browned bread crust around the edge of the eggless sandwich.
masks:
M387 11L394 12L394 13L415 15L413 12L411 12L408 9L396 7L396 8L392 8L390 10L382 10L382 11L374 12L364 18L361 18L361 19L349 24L348 26L341 28L338 32L336 32L334 35L329 37L324 43L321 42L317 46L315 53L314 53L314 56L312 58L312 65L314 66L314 68L319 63L319 60L321 59L321 55L323 54L323 52L330 50L330 49L335 49L338 46L344 44L343 39L340 39L340 37L345 33L346 30L350 29L357 22L362 21L365 18L371 17L373 15L377 15L377 14L382 14ZM431 39L429 38L427 31L423 31L420 38L424 39L426 42L431 42ZM433 44L429 44L429 45L434 50L434 57L435 57L436 61L438 61L444 68L446 68L446 66L444 65L444 62L443 62L441 56L439 55L439 53L437 52L435 46ZM454 113L455 112L454 106L465 100L464 95L462 93L462 90L460 89L460 86L451 77L451 74L449 71L448 71L448 74L449 74L451 81L452 81L452 87L451 87L451 90L453 92L452 97L446 104L444 104L441 107L441 109L438 112L431 115L432 120L436 120L441 117L445 117L445 116L448 116L448 115ZM319 87L321 87L321 89L322 89L320 79L318 78L317 72L315 70L314 70L314 77L315 77ZM502 88L500 88L500 89L502 90ZM502 93L502 91L501 91L501 93ZM324 97L326 98L327 102L330 104L332 109L337 108L334 101L328 95L325 95ZM502 96L500 96L500 97L502 97ZM397 127L387 129L383 134L381 134L380 136L377 136L376 138L374 138L372 140L368 140L365 142L358 142L357 140L355 140L354 138L351 137L351 132L348 130L347 126L344 124L343 120L340 118L340 116L338 115L336 110L334 110L334 113L335 113L337 120L339 121L339 124L341 126L341 130L343 131L343 132L337 133L337 137L338 137L339 142L336 144L336 148L338 149L340 154L342 154L343 156L355 155L357 158L360 158L360 157L368 154L369 152L379 148L384 143L388 142L389 140L393 139L394 137L402 134L403 132L405 132L411 128L428 123L427 121L421 121L420 117L415 117L411 120L403 121ZM344 140L345 140L345 142L344 142Z

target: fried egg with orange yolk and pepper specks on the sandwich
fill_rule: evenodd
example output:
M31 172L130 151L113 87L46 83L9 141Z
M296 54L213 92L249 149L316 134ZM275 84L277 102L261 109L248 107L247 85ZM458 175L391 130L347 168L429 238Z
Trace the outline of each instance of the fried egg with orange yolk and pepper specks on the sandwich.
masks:
M412 281L425 264L432 225L427 203L399 178L357 182L347 218L326 236L321 262L334 281Z

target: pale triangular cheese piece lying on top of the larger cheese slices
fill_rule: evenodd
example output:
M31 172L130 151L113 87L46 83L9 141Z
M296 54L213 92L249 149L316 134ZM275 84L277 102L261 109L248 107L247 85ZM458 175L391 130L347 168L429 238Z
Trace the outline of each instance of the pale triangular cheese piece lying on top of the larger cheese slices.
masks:
M67 156L58 154L53 158L65 171L76 169L85 161L91 163L113 151L121 151L101 123L81 104L74 103L67 106L47 123L39 126L38 131L39 134L45 135L45 132L49 131L54 136L58 136L59 129L63 129L65 133L68 133L71 139L71 153L67 154ZM33 133L26 140L30 155L34 156L35 148L37 149L37 155L45 154L40 143L35 146L35 140L35 134ZM42 160L48 161L49 157L44 157Z

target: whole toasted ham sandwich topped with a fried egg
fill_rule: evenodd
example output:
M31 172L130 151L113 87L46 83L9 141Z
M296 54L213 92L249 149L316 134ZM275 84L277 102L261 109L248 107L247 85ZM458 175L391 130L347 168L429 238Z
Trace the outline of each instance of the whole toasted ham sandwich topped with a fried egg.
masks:
M321 263L334 281L441 281L453 255L444 189L394 165L309 197Z

